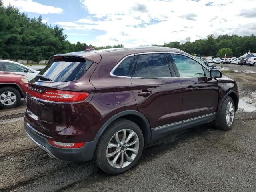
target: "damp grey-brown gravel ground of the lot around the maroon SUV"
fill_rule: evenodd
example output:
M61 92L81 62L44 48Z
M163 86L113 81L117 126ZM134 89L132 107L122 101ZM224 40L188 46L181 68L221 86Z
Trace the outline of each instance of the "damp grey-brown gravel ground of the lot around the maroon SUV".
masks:
M256 73L225 75L237 81L243 101L232 130L210 123L161 138L146 145L136 167L118 176L93 162L48 157L23 130L25 101L0 110L0 191L256 191Z

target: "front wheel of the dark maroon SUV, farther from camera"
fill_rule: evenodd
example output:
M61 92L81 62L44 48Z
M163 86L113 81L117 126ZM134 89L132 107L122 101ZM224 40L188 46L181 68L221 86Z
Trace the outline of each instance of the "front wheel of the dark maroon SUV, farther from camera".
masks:
M235 120L234 106L232 98L226 97L220 106L216 120L214 120L215 128L226 131L232 129Z

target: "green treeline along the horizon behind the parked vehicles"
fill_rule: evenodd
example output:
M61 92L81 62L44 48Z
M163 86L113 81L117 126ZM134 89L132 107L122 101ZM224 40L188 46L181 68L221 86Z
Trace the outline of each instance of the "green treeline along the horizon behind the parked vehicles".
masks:
M217 37L210 34L205 39L194 42L174 41L162 45L152 44L152 46L178 48L197 56L224 56L226 54L238 57L249 50L255 53L255 42L254 34L250 36L220 35ZM20 12L13 6L4 7L0 0L0 58L39 61L48 59L54 54L83 51L83 46L86 45L82 42L70 43L63 28L43 23L41 16L29 18L24 12ZM122 44L90 46L94 49L124 47ZM231 54L224 48L229 48Z

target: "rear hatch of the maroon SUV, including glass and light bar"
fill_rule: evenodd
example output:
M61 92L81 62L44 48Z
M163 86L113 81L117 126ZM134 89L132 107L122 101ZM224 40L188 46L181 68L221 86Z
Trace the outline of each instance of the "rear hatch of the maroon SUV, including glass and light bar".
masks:
M96 66L92 60L77 56L52 57L30 81L26 121L48 136L70 126L95 93L89 79Z

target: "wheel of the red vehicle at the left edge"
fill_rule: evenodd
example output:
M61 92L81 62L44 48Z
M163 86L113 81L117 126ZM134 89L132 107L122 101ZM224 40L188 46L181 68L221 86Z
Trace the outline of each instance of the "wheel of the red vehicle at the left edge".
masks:
M0 89L0 108L10 109L20 103L20 92L13 87L3 87Z

